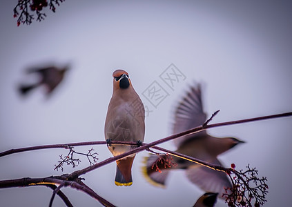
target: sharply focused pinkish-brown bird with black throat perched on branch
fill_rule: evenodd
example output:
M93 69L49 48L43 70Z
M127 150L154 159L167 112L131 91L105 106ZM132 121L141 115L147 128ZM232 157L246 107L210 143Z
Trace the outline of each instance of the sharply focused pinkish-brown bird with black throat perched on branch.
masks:
M110 144L110 141L135 141L137 143L144 141L144 119L144 105L132 86L128 72L115 70L113 72L113 96L108 105L104 126L108 149L114 156L128 152L136 146ZM131 169L134 158L135 154L117 160L115 177L117 186L133 184Z

